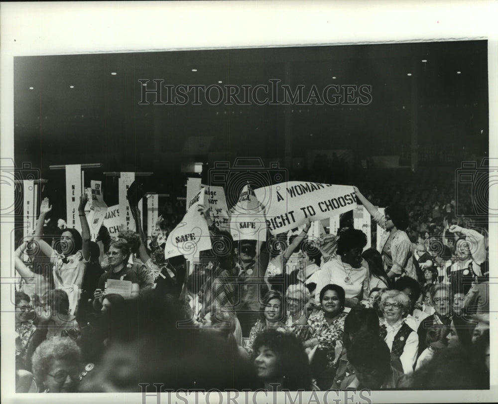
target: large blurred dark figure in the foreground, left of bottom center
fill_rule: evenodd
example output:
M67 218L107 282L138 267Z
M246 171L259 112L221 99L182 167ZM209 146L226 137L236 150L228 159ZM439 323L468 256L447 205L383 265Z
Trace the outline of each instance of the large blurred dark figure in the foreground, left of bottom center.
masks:
M174 390L256 387L251 367L227 360L233 345L183 323L178 302L147 294L125 300L122 312L127 320L111 327L106 352L87 376L84 392L139 393L139 384L153 389L153 383Z

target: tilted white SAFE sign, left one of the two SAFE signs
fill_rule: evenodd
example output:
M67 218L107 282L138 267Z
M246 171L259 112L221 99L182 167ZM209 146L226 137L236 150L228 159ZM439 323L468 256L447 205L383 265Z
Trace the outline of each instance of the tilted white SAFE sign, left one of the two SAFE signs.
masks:
M211 238L209 236L206 219L198 212L198 205L205 203L206 194L204 188L187 202L187 213L182 221L168 235L164 248L164 257L169 259L180 255L191 259L197 252L211 249Z

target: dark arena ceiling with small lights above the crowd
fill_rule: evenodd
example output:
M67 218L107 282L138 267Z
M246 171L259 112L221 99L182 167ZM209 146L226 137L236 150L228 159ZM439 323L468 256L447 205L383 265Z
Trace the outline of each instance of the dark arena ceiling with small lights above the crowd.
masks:
M308 149L375 153L380 145L386 152L394 145L395 152L410 143L412 108L418 112L421 144L457 141L487 150L487 46L487 41L460 41L16 57L15 157L17 163L30 160L43 169L101 162L108 170L134 164L145 171L157 170L157 164L175 171L179 156L283 158L288 114L293 157L305 157ZM218 81L255 86L279 79L306 89L368 84L372 102L139 105L139 79L206 86ZM192 136L211 141L205 150L189 152ZM95 161L88 161L92 157Z

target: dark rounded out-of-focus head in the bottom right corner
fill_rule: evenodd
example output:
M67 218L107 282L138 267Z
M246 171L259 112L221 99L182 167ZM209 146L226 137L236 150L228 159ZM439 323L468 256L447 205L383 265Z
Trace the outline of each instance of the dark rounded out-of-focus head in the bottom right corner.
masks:
M489 386L486 364L461 347L439 350L412 376L412 388L421 390L480 390Z

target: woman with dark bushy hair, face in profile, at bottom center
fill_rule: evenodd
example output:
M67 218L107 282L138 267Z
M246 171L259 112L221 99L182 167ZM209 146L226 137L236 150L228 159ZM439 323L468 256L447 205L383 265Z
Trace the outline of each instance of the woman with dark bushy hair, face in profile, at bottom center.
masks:
M294 334L277 330L262 332L254 341L252 356L264 390L312 390L308 357Z

